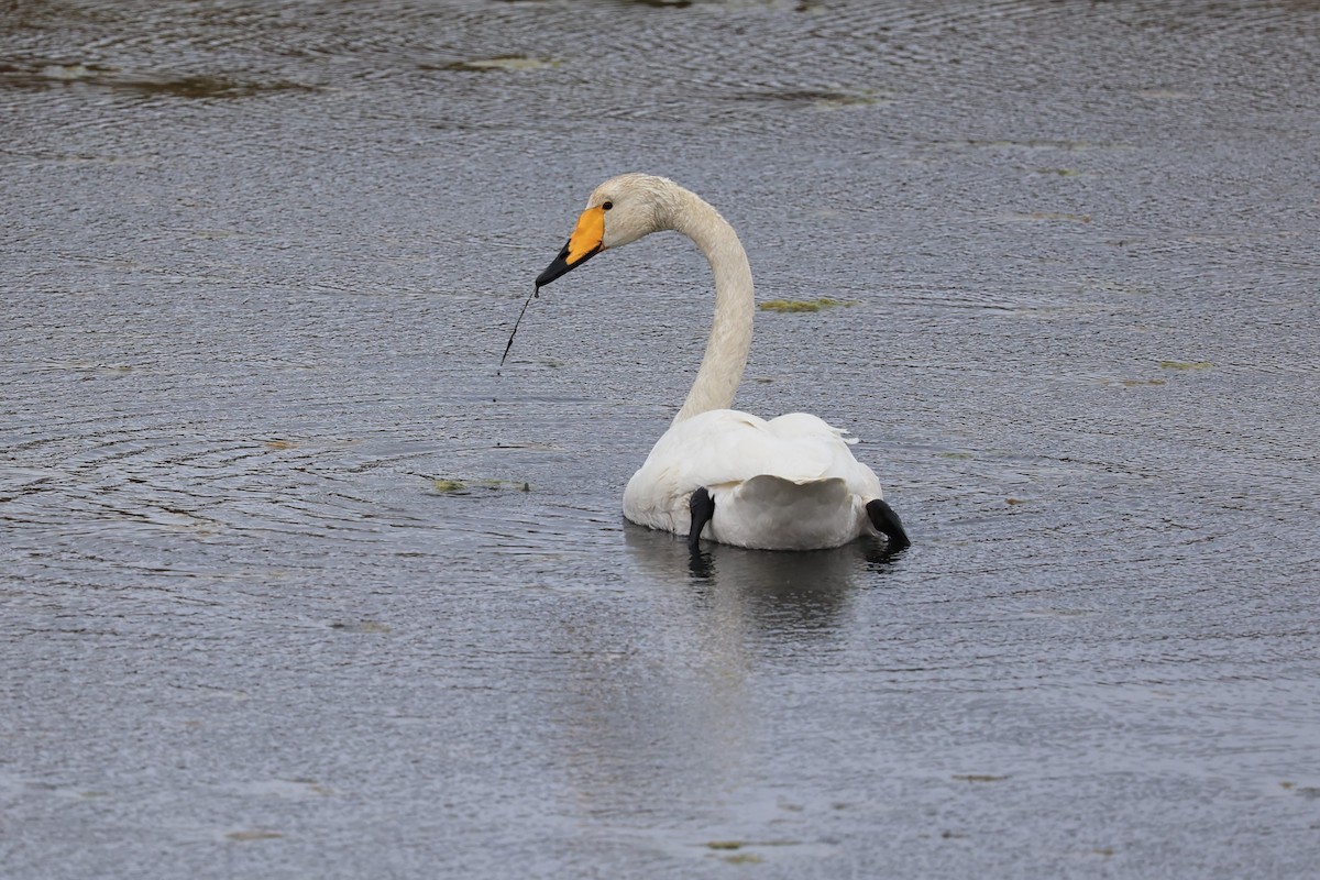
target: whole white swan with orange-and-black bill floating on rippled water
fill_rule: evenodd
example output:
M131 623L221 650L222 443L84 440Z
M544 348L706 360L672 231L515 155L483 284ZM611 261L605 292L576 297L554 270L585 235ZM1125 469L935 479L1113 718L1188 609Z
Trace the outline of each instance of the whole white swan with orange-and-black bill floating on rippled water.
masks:
M536 286L651 232L692 239L715 276L715 317L697 379L673 425L623 492L640 525L766 550L814 550L880 534L908 545L880 482L853 458L843 433L816 416L764 421L729 409L751 348L754 294L747 253L710 204L673 181L622 174L591 193L573 236ZM855 442L855 441L853 441Z

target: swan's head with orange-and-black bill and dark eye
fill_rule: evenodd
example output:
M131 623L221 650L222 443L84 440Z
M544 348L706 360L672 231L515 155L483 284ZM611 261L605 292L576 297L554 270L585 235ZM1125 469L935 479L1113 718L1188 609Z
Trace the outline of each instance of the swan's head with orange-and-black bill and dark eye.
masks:
M537 276L536 286L572 272L601 251L672 228L672 207L684 191L673 181L651 174L620 174L595 187L569 243Z

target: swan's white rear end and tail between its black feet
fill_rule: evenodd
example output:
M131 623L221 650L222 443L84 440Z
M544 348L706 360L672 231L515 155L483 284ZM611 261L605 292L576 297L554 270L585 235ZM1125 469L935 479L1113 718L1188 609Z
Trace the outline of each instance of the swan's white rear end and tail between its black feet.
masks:
M866 511L838 476L791 480L763 474L713 487L709 537L744 548L807 550L847 544Z

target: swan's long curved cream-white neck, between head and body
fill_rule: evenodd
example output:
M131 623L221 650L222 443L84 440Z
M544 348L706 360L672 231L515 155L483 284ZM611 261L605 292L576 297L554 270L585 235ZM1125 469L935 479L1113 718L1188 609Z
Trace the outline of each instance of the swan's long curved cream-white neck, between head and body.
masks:
M751 351L755 296L747 252L715 208L682 190L672 224L697 243L715 276L715 317L697 379L673 420L681 422L711 409L727 409L734 402Z

